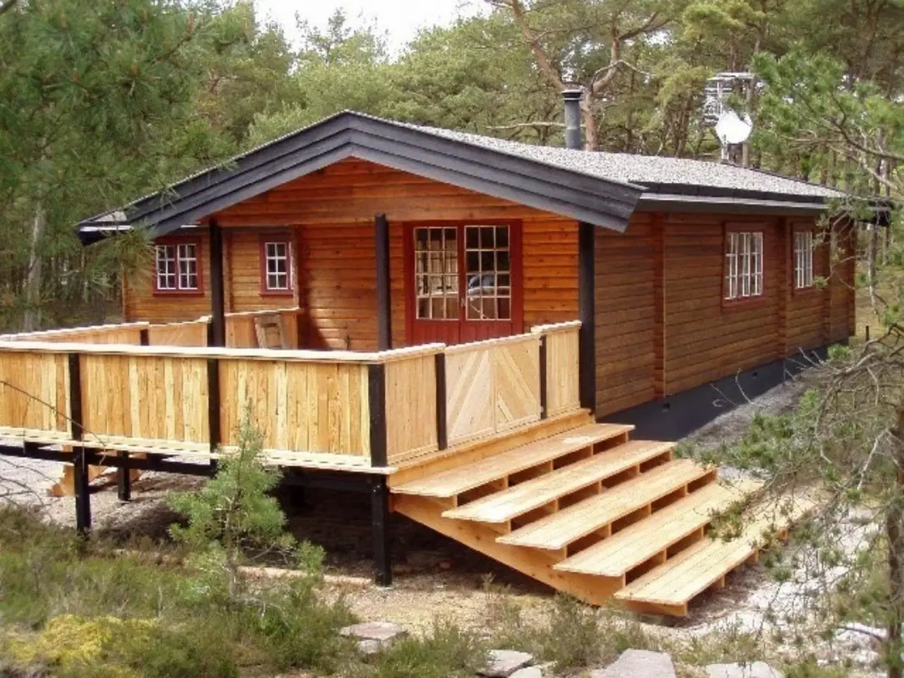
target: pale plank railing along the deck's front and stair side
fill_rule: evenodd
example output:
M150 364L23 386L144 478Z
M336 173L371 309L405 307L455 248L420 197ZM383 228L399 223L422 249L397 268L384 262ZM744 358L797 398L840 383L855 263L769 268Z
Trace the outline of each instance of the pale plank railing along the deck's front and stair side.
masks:
M0 436L206 457L247 416L272 463L395 466L578 410L578 331L379 353L0 342Z

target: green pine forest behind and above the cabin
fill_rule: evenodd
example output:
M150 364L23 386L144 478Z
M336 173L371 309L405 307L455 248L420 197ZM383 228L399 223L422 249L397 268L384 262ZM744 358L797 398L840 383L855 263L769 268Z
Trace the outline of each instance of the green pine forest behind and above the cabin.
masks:
M77 221L344 108L561 146L577 85L589 149L718 162L704 85L752 71L736 160L899 197L901 0L484 2L390 50L341 12L294 41L245 1L0 0L0 330L115 320L146 240Z

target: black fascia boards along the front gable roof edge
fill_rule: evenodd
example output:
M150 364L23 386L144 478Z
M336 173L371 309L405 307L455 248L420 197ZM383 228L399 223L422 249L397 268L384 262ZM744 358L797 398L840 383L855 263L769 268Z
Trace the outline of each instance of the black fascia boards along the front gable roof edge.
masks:
M350 135L358 145L351 143ZM564 213L618 231L626 228L627 217L643 191L633 184L608 182L414 127L345 112L234 158L234 166L214 167L143 198L125 208L127 221L148 221L155 225L155 235L163 235L291 178L355 155L357 146L373 146L367 155L380 155L383 160L396 157L399 165L431 165L429 178L457 185L466 181L463 187L538 209L562 213L563 207L571 205L573 210ZM407 152L399 153L402 148ZM109 221L101 224L94 219L82 221L80 226L111 225Z

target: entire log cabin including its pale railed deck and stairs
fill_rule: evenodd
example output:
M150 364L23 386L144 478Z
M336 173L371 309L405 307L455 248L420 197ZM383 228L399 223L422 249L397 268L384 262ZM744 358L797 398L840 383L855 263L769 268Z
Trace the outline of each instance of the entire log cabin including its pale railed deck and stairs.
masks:
M370 496L380 584L394 512L687 614L812 503L713 538L757 487L667 440L852 334L852 230L821 186L578 150L577 106L565 148L344 112L82 222L146 224L154 266L124 325L0 337L0 454L70 463L85 530L91 465L123 499L128 469L210 476L250 413L287 482Z

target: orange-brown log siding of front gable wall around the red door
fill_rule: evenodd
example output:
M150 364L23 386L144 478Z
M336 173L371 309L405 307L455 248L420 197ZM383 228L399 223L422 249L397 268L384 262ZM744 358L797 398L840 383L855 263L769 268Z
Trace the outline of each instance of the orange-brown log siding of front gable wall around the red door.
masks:
M381 165L344 160L234 205L216 219L227 229L297 227L306 345L372 350L377 342L376 212L386 212L390 221L393 346L406 344L406 221L522 221L524 326L577 317L577 223ZM240 270L248 267L237 249L231 265L232 284L243 284ZM238 304L237 293L235 298Z

